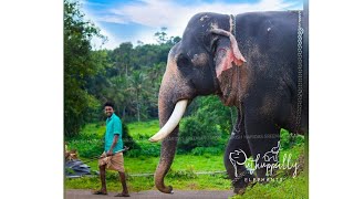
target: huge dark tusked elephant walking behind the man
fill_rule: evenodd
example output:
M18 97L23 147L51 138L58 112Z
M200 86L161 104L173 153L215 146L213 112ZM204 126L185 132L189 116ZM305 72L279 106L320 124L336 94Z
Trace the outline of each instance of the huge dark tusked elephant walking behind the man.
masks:
M239 175L235 178L230 153L242 150L247 157L263 157L278 146L281 128L308 133L308 30L306 19L299 20L300 17L306 18L303 11L237 15L201 12L189 20L181 40L168 53L158 94L162 128L149 138L162 140L154 176L159 191L173 193L173 187L166 186L164 178L176 154L179 121L196 96L217 95L226 106L238 109L223 158L236 193L242 193L249 186L243 178L254 175L266 178L267 174L263 168L249 174L243 165L238 165ZM299 25L304 27L300 54Z

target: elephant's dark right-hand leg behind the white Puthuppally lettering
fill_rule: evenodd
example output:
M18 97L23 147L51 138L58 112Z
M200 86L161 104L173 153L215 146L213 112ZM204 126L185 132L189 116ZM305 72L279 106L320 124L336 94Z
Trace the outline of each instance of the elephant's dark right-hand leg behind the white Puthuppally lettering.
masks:
M274 169L270 166L278 160L277 157L267 158L266 154L278 146L278 142L280 140L280 128L269 118L263 117L256 119L254 116L248 117L247 113L244 122L248 144L256 164L257 178L260 182L266 182L267 176L274 172Z

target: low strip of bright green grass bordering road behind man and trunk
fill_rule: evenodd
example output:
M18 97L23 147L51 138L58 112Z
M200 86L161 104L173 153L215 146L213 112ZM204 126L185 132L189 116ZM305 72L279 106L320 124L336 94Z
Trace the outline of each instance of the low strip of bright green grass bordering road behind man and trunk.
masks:
M84 161L85 159L82 158ZM128 176L127 184L131 191L153 190L154 177L132 177L131 174L154 174L159 157L149 158L125 158L124 166ZM97 161L87 163L92 170L97 170ZM226 190L230 189L230 180L226 175L195 175L197 171L225 170L222 156L191 156L176 155L171 170L165 178L166 185L171 185L175 189L208 189ZM188 172L189 171L189 172ZM192 175L188 175L192 174ZM116 172L107 171L108 190L121 190L121 184L117 181ZM210 184L212 181L212 184ZM100 179L95 177L82 177L75 179L65 179L67 189L97 189Z

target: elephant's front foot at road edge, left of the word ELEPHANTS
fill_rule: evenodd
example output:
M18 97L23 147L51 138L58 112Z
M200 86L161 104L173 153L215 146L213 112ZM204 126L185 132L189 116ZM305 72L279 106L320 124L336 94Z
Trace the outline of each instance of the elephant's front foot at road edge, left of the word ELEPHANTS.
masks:
M246 189L249 185L253 186L253 178L254 176L251 175L248 170L244 170L240 175L238 175L233 180L232 180L232 186L233 186L233 192L236 195L243 195L246 192Z

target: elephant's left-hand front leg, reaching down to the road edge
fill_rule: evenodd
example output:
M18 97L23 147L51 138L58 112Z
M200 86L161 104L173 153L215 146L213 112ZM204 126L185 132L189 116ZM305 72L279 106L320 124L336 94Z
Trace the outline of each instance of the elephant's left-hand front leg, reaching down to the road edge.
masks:
M230 154L235 151L244 151L246 156L249 157L251 155L250 148L248 146L248 142L246 139L244 134L244 119L243 114L238 112L238 121L233 126L231 136L228 142L228 146L223 156L223 164L227 170L229 178L232 181L233 192L235 193L243 193L246 187L252 181L253 176L248 172L244 165L238 165L237 163L232 163L230 160ZM243 161L243 160L240 160ZM237 171L237 172L236 172Z

